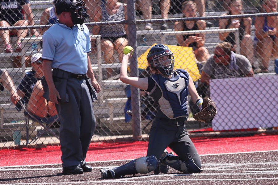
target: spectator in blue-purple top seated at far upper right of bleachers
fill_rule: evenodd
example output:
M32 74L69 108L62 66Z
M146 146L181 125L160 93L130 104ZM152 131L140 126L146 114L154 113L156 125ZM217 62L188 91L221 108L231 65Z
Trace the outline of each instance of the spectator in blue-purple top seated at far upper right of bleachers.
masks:
M262 12L277 12L276 0L263 0ZM278 17L267 16L255 19L255 43L256 51L262 59L262 72L267 73L271 56L278 57Z

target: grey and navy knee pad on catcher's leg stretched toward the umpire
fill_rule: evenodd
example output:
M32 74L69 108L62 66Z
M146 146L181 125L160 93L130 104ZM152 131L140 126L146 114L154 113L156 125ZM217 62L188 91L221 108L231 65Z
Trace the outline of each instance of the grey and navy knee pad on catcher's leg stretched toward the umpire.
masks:
M158 160L154 155L150 157L141 157L135 161L135 169L140 174L147 174L151 171L154 171L158 166Z

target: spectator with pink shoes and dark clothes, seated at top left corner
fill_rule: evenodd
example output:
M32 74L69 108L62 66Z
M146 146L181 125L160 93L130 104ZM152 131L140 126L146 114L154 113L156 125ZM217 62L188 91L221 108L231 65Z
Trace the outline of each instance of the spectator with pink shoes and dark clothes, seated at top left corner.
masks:
M27 20L24 20L26 15ZM0 27L9 26L28 26L34 25L33 14L28 0L7 0L1 1L0 7ZM21 41L27 35L27 30L12 30L12 34L17 35L17 43L15 44L15 51L21 51ZM10 31L1 30L1 39L5 44L5 52L13 52L10 44ZM35 29L31 29L31 35L39 36L40 33Z

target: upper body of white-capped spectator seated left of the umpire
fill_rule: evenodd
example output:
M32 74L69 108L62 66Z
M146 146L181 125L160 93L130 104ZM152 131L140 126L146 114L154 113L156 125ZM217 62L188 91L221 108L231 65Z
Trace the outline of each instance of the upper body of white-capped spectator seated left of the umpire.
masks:
M42 60L41 60L40 53L36 53L32 55L31 57L32 70L26 73L26 75L23 77L16 90L19 97L21 97L22 104L28 105L34 86L38 86L39 84L37 84L37 81L42 80L44 76L41 63ZM16 104L17 109L20 111L22 108L21 107L22 104L20 104L18 101L16 101L13 98L11 98L11 100L14 104Z

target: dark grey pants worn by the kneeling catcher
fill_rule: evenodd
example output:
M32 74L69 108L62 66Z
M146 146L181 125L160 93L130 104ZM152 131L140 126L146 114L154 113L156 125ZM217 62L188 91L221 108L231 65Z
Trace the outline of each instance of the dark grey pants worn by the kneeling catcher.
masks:
M155 155L159 159L166 147L169 146L179 156L179 159L182 161L193 159L201 168L199 154L187 134L185 122L155 119L150 130L147 156Z

